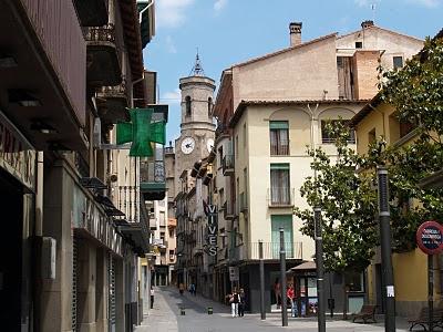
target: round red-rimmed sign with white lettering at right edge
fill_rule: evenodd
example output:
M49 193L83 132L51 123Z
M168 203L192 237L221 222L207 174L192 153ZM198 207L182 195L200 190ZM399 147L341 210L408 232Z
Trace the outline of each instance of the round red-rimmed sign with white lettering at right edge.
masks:
M443 251L443 226L436 221L425 221L416 230L416 245L424 253Z

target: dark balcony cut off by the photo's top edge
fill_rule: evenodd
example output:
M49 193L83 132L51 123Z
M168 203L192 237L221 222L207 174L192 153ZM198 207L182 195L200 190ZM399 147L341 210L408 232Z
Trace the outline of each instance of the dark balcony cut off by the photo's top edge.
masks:
M74 0L83 27L100 27L107 23L109 0Z

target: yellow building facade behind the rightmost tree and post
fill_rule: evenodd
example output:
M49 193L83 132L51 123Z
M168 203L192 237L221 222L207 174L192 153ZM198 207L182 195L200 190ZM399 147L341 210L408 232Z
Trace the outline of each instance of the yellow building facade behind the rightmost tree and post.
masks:
M399 123L394 113L393 106L380 102L375 96L353 117L352 125L356 128L357 149L360 155L368 154L368 145L380 137L393 147L401 147L414 139L416 132L410 125ZM419 248L408 252L393 252L392 264L396 314L413 317L420 308L427 305L427 257ZM440 273L434 273L434 299L439 301L440 277L435 274ZM367 277L369 301L383 310L380 248L377 248L375 256L368 267Z

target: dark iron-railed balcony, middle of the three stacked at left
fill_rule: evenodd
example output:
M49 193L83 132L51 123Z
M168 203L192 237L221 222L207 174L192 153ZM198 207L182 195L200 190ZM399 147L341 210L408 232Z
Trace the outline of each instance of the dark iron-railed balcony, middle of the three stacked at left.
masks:
M114 24L86 28L85 40L87 84L92 87L119 85L122 82L122 70Z

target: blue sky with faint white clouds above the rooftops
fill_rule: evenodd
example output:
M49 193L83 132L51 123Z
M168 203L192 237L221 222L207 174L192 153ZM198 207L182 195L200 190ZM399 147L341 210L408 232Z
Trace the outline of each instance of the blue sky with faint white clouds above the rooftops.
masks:
M179 136L178 80L198 53L218 87L223 70L289 46L289 23L302 22L302 41L375 25L424 39L443 28L443 0L155 0L156 33L144 50L157 72L158 103L169 105L167 141Z

